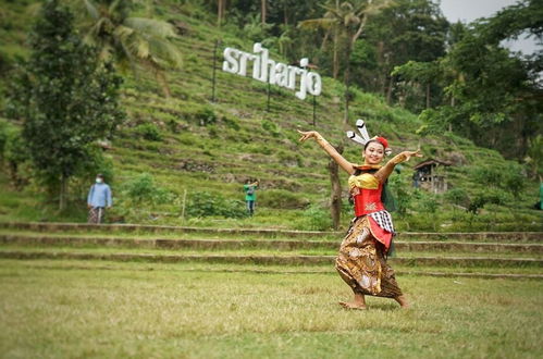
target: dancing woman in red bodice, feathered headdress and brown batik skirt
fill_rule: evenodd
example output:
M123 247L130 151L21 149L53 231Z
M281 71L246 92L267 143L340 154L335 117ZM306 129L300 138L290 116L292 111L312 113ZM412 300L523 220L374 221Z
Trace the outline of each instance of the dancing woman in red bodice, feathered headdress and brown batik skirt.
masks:
M350 195L355 202L355 219L340 247L335 269L355 293L353 301L341 301L347 309L366 309L365 296L395 299L403 308L409 307L402 289L396 283L393 269L386 263L386 256L394 236L391 214L383 200L383 186L398 163L408 161L412 156L422 157L420 150L404 151L384 165L380 165L388 143L383 137L369 138L359 120L357 126L362 137L348 132L347 135L362 144L363 164L348 162L318 132L301 132L300 141L314 138L337 164L349 175Z

